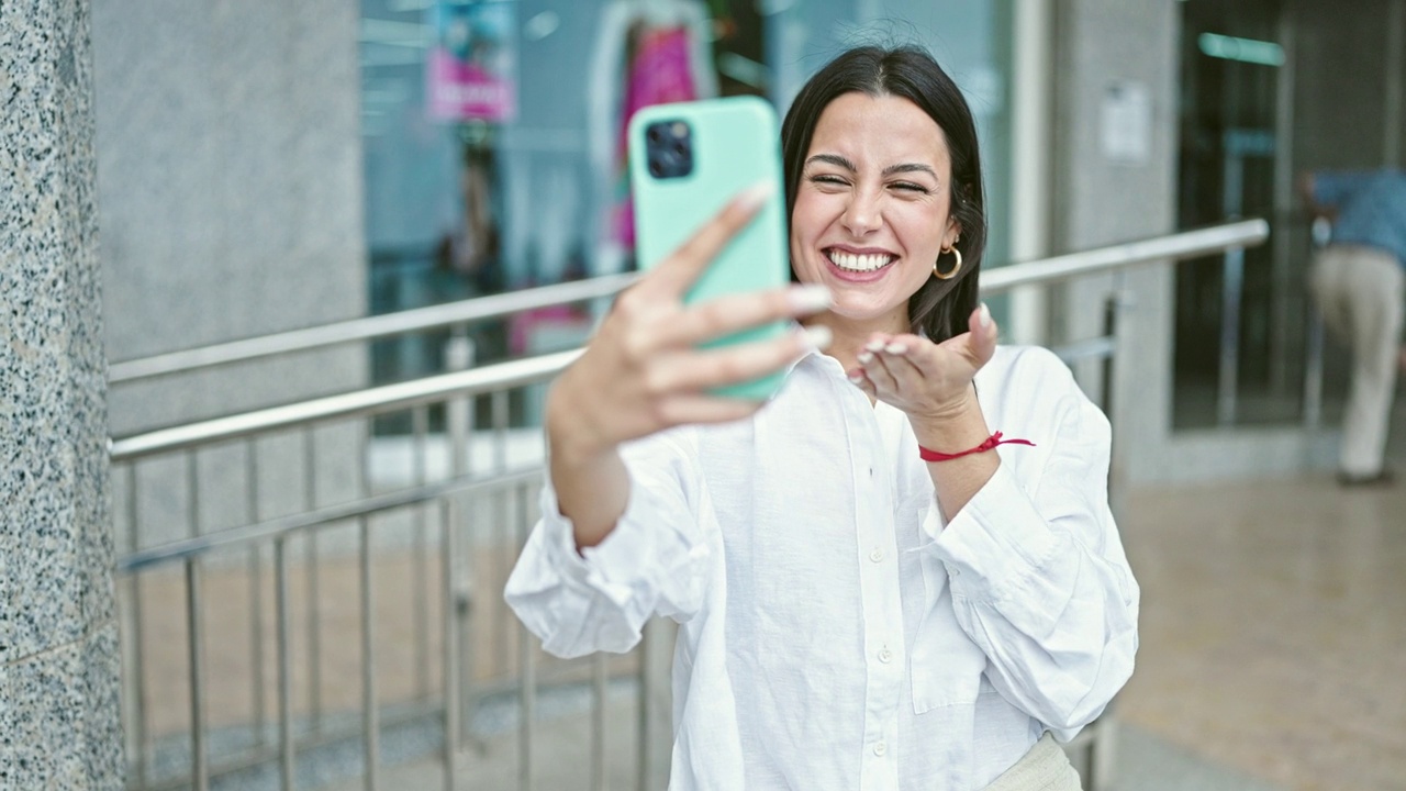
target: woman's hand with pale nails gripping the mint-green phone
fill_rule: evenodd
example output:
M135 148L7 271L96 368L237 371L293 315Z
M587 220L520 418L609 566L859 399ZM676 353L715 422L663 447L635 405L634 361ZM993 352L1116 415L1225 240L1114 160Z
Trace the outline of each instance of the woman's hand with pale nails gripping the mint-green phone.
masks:
M682 424L745 418L762 401L714 396L710 388L778 370L828 334L786 334L769 341L697 349L713 338L824 310L820 286L721 297L685 305L683 296L768 197L752 187L704 224L688 242L616 300L582 356L547 398L547 435L558 463L613 455L630 439Z

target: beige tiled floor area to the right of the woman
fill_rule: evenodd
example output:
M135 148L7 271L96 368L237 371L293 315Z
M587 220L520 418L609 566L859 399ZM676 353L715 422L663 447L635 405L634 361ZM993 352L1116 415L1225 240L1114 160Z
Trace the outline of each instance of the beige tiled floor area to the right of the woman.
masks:
M1296 790L1406 788L1406 486L1144 491L1129 723Z

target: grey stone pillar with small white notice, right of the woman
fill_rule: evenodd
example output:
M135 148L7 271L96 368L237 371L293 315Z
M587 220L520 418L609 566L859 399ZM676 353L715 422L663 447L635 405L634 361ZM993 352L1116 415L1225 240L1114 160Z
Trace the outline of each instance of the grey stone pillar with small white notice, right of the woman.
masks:
M1178 14L1177 0L1056 3L1053 252L1175 229ZM1053 339L1101 335L1102 300L1115 289L1137 296L1114 374L1125 403L1105 404L1121 412L1112 417L1132 467L1115 474L1156 479L1171 431L1174 272L1071 281L1054 300ZM1098 362L1076 373L1087 391L1102 390Z

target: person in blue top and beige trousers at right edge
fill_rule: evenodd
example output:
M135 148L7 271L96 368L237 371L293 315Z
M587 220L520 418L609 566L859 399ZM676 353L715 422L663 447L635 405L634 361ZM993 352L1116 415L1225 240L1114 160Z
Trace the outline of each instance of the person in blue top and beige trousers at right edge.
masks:
M1339 481L1389 484L1386 436L1398 370L1406 366L1406 173L1319 170L1299 186L1309 211L1333 225L1309 290L1324 325L1353 350Z

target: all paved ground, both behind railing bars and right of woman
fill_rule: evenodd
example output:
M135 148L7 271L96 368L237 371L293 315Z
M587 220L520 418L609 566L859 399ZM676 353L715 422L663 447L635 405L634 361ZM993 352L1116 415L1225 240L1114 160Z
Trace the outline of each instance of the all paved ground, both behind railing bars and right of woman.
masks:
M1128 726L1119 788L1406 788L1406 483L1343 490L1329 476L1306 476L1136 491L1122 532L1143 609L1137 671L1118 702ZM482 602L496 601L488 594L502 584L508 562L479 556ZM415 581L439 591L437 570L420 573L399 555L380 560L375 577L381 700L413 695L420 673L437 687L436 629L422 664L412 616ZM253 708L247 580L242 566L207 574L208 716L217 726L247 722ZM295 567L294 690L304 712L305 584ZM264 588L264 705L273 712L267 566ZM181 590L176 576L143 584L148 700L157 735L188 722ZM319 688L328 711L353 711L360 701L357 591L354 562L325 566ZM434 625L437 595L429 601ZM491 614L479 618L477 676L515 660L513 645L495 636L505 628L510 622ZM628 698L619 694L612 705L624 708L612 736L610 776L623 781L633 777L634 725ZM543 723L554 736L541 749L540 788L585 785L582 725L579 716ZM464 757L463 768L477 778L464 787L515 787L512 732L486 739L485 753ZM387 771L382 787L419 788L434 787L440 770L420 763Z

